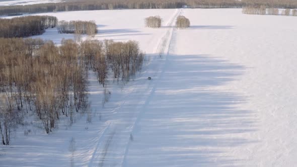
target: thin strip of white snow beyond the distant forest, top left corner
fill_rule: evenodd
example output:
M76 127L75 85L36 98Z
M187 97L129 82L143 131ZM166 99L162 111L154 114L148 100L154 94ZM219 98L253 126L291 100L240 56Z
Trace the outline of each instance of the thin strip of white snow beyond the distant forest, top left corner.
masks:
M45 4L45 3L58 3L62 0L11 0L0 1L0 6L14 6L14 5L32 5L32 4Z

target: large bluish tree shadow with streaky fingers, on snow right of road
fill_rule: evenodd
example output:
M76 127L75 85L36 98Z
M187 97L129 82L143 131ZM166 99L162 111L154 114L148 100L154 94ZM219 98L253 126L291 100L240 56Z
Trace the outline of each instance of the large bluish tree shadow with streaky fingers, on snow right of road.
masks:
M128 166L243 165L224 153L256 142L242 137L256 130L253 112L237 108L247 97L215 87L242 77L245 67L209 55L168 55L163 65L162 80L153 78L156 91L136 125Z

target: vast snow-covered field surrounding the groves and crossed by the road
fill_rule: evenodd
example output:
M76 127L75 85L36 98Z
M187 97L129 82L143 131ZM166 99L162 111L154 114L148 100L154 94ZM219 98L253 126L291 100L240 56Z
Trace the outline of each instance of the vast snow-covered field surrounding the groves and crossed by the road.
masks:
M30 122L19 127L11 145L0 147L0 166L297 163L296 17L243 15L241 9L46 15L95 20L95 38L137 40L146 61L126 85L109 80L111 97L104 107L104 89L90 73L89 111L71 126L61 121L50 135ZM163 18L163 27L145 28L143 19L155 15ZM189 29L174 28L178 15L190 19ZM57 44L73 38L55 29L38 37Z

